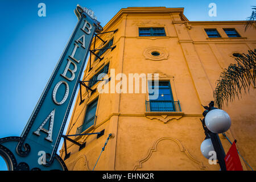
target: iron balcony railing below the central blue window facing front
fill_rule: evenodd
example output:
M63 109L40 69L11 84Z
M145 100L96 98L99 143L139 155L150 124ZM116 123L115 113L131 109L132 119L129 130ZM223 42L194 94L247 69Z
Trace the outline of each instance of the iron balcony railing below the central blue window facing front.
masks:
M146 101L146 111L181 112L180 101Z

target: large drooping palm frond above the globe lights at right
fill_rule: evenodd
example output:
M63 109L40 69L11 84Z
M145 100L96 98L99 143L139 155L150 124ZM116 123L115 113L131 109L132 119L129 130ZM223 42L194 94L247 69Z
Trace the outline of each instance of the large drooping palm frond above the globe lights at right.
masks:
M236 59L236 64L230 64L228 69L221 73L216 82L216 88L213 92L214 103L218 108L222 108L224 102L228 105L234 98L240 99L242 90L250 91L250 85L255 85L256 74L256 49L249 50L247 54L243 53ZM253 74L251 74L253 70Z

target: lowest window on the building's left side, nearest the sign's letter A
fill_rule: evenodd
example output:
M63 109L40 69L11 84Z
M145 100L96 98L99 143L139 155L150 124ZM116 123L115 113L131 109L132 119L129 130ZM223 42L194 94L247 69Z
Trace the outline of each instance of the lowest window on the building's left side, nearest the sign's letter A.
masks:
M84 124L82 125L82 131L85 131L90 126L94 124L94 119L96 117L96 109L97 109L98 99L90 103L86 109Z

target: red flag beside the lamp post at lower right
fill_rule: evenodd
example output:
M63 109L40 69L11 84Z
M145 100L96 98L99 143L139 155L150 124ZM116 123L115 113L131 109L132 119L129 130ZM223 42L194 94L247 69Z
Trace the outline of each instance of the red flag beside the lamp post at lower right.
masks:
M233 142L225 156L226 171L243 171L240 158L238 156L236 142Z

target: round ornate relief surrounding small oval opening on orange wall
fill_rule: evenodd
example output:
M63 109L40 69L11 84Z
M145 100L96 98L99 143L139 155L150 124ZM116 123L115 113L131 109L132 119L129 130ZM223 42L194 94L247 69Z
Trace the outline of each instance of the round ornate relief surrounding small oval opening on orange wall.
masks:
M160 61L168 59L168 51L164 47L148 47L144 50L143 55L146 59Z

